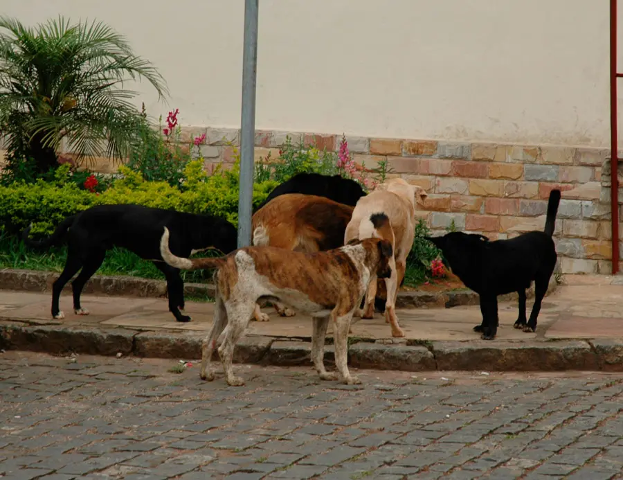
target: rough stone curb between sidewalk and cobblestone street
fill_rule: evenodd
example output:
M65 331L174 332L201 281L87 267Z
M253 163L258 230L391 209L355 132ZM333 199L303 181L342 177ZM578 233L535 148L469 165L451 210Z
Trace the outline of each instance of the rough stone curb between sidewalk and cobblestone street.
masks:
M136 331L125 328L37 326L0 323L0 348L67 355L135 355L201 358L204 333ZM235 362L311 366L311 342L249 335L235 349ZM422 341L349 346L349 365L395 371L623 371L623 339L558 341ZM215 353L214 359L217 358ZM325 347L327 365L334 347Z

